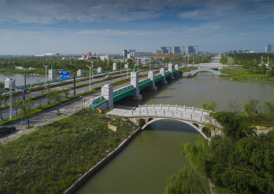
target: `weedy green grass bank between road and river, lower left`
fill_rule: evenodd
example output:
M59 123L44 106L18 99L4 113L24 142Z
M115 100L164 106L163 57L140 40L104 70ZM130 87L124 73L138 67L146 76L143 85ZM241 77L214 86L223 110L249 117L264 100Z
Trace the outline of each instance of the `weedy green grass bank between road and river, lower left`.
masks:
M62 193L134 130L123 117L86 110L0 145L0 193Z

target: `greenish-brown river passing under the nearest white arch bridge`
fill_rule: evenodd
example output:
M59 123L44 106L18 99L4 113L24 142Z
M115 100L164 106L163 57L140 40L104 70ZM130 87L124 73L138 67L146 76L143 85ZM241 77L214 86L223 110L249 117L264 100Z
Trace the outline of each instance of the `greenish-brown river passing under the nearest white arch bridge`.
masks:
M251 98L274 99L273 83L234 82L199 73L180 78L158 91L142 90L142 101L123 99L118 104L178 104L201 108L203 102L216 101L217 110L227 110L228 101L243 104ZM181 143L193 142L194 128L179 121L162 120L151 123L121 153L90 178L77 193L164 193L165 180L188 161L181 156Z

